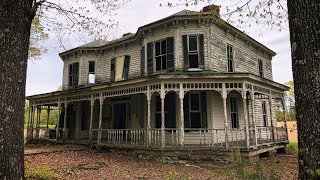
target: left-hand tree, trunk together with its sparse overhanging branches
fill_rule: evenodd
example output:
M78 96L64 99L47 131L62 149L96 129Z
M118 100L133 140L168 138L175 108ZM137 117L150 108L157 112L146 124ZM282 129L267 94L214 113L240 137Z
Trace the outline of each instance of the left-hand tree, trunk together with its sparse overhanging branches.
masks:
M0 2L0 179L24 178L23 117L32 20L47 30L105 37L127 0L2 0ZM100 15L100 16L99 16Z

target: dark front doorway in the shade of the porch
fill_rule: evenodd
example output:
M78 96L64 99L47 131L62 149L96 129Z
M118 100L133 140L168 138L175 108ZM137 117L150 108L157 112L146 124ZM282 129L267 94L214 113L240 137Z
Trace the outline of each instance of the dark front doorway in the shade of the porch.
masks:
M114 104L114 128L126 129L127 122L127 104Z

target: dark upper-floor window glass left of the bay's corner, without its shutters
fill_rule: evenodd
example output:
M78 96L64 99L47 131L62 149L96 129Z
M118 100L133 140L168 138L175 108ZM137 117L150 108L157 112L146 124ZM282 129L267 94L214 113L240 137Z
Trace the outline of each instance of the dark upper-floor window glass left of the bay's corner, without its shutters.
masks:
M156 71L167 69L167 41L155 42L154 49Z

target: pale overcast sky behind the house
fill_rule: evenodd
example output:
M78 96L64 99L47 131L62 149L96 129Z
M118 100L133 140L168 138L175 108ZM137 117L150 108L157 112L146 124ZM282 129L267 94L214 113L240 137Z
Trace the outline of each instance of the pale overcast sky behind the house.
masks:
M160 7L160 3L163 2L166 1L131 0L125 7L118 10L117 15L114 16L115 20L119 22L119 28L114 32L113 36L120 37L127 32L135 33L140 26L183 9L199 11L206 5ZM287 25L285 25L285 29L288 29ZM279 83L292 80L289 31L260 29L254 26L245 29L245 31L248 35L277 53L272 60L273 80ZM73 47L80 45L79 42L72 43L72 40L69 41L74 44ZM57 48L56 44L57 39L54 38L52 33L49 33L49 39L43 43L48 52L42 55L39 60L29 60L26 84L27 96L56 91L62 84L63 62L58 55L62 50Z

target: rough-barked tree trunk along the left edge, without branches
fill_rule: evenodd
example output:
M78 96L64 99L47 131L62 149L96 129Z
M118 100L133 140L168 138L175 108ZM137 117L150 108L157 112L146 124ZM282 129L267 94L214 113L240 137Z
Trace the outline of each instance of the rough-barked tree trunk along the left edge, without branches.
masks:
M0 179L23 179L23 118L32 0L0 1Z

